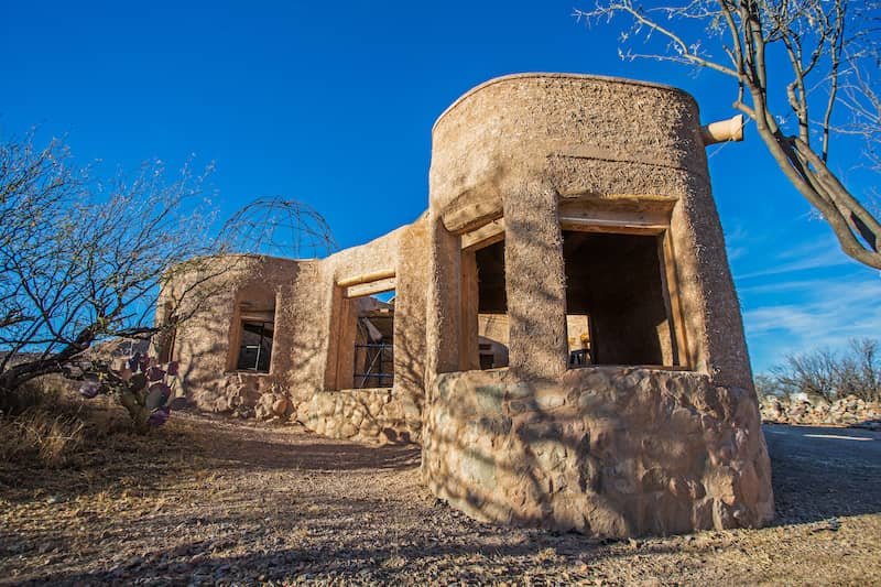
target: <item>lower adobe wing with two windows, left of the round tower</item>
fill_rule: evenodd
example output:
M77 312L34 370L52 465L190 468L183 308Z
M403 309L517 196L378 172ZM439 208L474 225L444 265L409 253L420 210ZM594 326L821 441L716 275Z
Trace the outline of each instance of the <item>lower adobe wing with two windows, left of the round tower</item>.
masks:
M307 427L339 438L366 442L417 439L422 428L425 362L424 220L402 227L361 247L317 261L233 254L214 259L222 276L202 287L217 289L209 307L183 323L174 358L181 383L197 407L241 416L298 418ZM354 324L358 301L342 297L348 279L390 273L396 276L395 379L393 390L351 390L334 378L338 363L349 366L344 323ZM181 274L164 296L186 287L195 275ZM164 301L157 319L164 320ZM268 373L235 367L239 307L247 301L275 309L275 336ZM354 339L352 339L354 343ZM350 376L350 373L349 373ZM283 400L283 401L280 401ZM273 406L278 410L273 412Z

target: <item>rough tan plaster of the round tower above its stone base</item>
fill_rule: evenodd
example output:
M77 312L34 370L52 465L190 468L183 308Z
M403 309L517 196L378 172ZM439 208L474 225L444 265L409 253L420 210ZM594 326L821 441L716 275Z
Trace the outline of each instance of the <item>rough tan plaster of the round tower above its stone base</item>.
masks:
M547 282L562 263L558 207L601 205L612 197L631 205L643 196L677 198L671 237L692 363L717 381L750 388L740 307L699 128L694 99L671 87L563 74L490 80L459 98L435 123L433 221L455 233L503 216L505 259L522 269L509 263L509 274L531 289L509 301L529 309L531 298L558 298L562 292L559 279ZM512 324L512 337L518 328L529 326ZM533 346L539 351L552 346L556 356L559 344L535 339ZM512 348L512 368L530 357L523 368L548 374L563 369L550 357L536 365L531 350Z

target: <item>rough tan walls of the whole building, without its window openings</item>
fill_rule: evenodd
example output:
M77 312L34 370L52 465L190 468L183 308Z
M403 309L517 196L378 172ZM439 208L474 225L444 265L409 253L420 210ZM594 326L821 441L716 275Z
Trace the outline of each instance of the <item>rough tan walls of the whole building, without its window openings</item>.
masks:
M766 522L768 454L698 120L687 94L630 80L526 74L479 86L433 129L428 210L413 225L322 261L217 260L236 261L224 293L177 334L187 395L232 412L282 394L322 434L418 441L432 490L482 519L612 536ZM671 289L690 371L567 371L561 204L659 202L672 204ZM510 368L469 371L477 318L460 236L499 218ZM351 309L339 284L389 274L394 388L336 390ZM242 295L275 300L268 374L227 371Z

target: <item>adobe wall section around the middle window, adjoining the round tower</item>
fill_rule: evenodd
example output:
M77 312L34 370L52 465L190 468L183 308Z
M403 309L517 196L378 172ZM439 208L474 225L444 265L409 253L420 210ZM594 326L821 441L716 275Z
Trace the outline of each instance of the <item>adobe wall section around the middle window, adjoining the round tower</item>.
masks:
M300 421L330 437L368 442L417 441L422 430L425 372L426 222L420 218L367 244L346 249L319 261L317 290L325 292L314 322L317 335L320 389L300 404ZM395 278L394 383L388 390L347 390L334 372L351 362L351 345L340 336L351 303L344 300L339 283L366 274ZM351 318L349 318L351 322ZM333 411L330 406L333 407Z

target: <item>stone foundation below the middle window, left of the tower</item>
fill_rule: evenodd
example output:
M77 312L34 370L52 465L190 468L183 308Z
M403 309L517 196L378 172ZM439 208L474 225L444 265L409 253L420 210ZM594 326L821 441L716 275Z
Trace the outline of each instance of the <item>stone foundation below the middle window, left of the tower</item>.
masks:
M297 420L330 438L380 444L410 441L403 405L387 388L318 392L300 404Z

